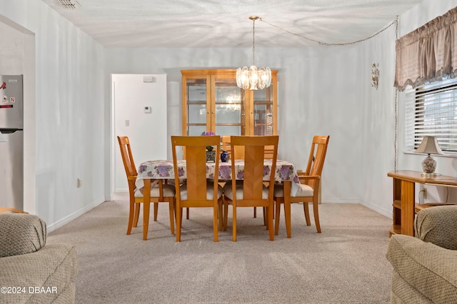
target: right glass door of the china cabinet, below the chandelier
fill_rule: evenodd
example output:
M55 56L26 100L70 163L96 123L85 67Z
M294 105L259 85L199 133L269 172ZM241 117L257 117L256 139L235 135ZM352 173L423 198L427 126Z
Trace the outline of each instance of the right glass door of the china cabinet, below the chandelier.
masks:
M273 84L263 90L253 91L253 135L273 134Z

